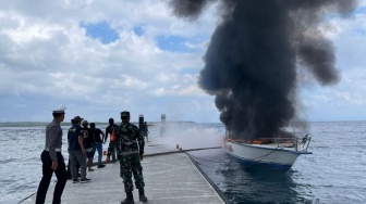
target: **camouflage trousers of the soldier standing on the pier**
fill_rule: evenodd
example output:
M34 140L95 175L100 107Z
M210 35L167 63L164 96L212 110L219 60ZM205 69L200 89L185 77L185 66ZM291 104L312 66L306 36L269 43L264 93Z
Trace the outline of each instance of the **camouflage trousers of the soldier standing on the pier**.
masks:
M123 179L125 192L133 191L132 175L135 179L136 189L145 187L143 166L141 165L138 154L120 155L120 175Z

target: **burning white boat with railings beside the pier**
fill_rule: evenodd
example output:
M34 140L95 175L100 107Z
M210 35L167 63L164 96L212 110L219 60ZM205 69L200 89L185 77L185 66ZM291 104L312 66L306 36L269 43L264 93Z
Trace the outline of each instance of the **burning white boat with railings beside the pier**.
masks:
M225 151L241 162L267 168L289 170L301 154L307 151L312 137L260 138L255 140L230 139L227 131Z

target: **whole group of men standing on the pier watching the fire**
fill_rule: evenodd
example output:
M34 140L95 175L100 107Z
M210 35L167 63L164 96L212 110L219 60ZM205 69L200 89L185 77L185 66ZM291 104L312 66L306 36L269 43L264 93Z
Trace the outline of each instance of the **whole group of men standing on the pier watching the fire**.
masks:
M45 203L46 194L52 174L56 174L58 179L52 203L61 203L61 195L68 180L64 158L61 154L62 145L62 129L61 122L64 119L65 107L57 109L52 112L53 120L46 127L46 144L40 158L42 162L42 178L39 182L36 204ZM117 140L111 141L108 148L108 157L112 155L113 162L117 157L120 161L120 176L123 179L124 191L126 199L121 204L132 204L133 199L133 181L132 175L135 179L136 189L138 189L139 201L147 202L145 196L145 182L143 177L143 167L141 161L144 158L145 140L137 126L130 123L130 112L121 112L122 123L118 126L114 125L112 118L109 119L109 126L105 133L90 123L80 116L72 119L72 127L68 132L69 154L70 154L70 169L73 182L88 182L90 179L86 178L86 157L88 158L88 169L93 171L91 163L95 149L98 151L98 167L105 167L101 164L102 143L107 141L108 135L115 133ZM83 127L81 126L83 122ZM102 136L102 139L100 139ZM112 135L111 135L112 136ZM76 163L81 166L81 179L77 179Z

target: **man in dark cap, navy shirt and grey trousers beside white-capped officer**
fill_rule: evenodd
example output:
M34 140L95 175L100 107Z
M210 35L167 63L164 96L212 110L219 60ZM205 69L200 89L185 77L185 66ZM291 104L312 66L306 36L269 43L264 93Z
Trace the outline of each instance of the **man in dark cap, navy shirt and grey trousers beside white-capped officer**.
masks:
M84 132L81 126L83 119L81 116L75 116L75 124L69 129L68 133L70 169L73 183L90 181L90 179L86 178L86 150L83 143ZM76 162L81 166L81 180L77 179Z

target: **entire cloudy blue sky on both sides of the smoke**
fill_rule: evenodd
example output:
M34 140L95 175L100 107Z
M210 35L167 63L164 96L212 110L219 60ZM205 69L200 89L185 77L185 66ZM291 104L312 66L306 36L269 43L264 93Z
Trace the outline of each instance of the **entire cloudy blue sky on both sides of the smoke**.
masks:
M47 122L65 105L66 120L219 122L213 97L197 86L219 18L215 4L194 22L166 1L0 2L0 122ZM300 90L307 120L366 119L366 1L351 18L331 17L324 33L337 48L342 80Z

